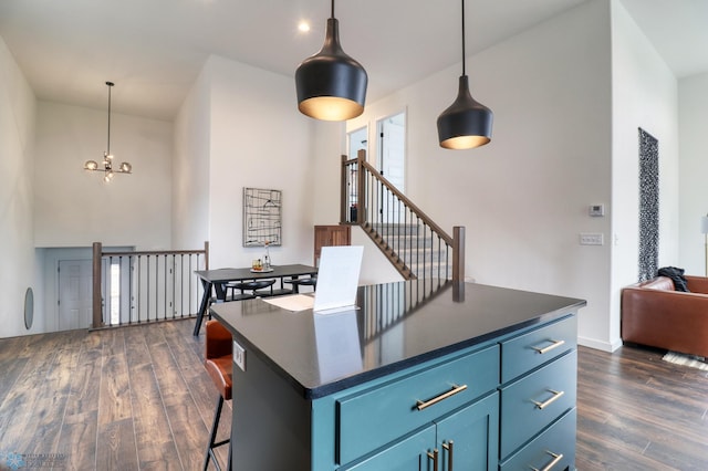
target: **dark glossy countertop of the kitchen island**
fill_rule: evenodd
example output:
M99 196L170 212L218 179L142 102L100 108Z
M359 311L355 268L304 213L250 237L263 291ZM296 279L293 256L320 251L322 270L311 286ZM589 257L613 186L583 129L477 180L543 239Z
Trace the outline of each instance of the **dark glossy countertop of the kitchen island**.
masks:
M314 399L500 335L577 312L582 300L476 283L361 286L358 310L289 312L262 300L215 304L249 355Z

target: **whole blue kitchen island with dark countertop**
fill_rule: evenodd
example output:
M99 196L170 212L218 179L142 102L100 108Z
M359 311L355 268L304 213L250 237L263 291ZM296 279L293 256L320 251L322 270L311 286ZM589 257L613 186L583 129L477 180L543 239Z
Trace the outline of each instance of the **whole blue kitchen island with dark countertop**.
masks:
M573 470L582 300L414 280L356 310L216 304L237 470Z

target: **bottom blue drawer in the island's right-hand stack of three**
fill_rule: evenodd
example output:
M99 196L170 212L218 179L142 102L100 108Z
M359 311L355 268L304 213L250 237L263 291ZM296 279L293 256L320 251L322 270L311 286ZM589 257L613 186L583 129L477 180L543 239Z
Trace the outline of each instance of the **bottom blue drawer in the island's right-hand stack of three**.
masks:
M532 442L504 461L500 471L545 470L560 471L575 468L576 409L573 408L549 427ZM554 462L555 461L555 462ZM552 467L549 467L553 463Z

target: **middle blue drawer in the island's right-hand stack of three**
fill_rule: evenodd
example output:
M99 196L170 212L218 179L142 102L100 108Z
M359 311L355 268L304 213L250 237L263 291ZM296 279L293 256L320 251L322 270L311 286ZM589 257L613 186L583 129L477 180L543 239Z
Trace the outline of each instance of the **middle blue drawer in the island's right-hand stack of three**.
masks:
M576 365L573 350L501 388L502 458L575 407Z

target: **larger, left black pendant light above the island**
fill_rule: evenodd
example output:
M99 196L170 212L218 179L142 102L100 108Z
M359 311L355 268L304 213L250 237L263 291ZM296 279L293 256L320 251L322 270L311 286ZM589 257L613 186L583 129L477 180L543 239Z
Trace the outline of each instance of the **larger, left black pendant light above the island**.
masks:
M322 49L302 61L295 71L298 109L315 119L351 119L364 113L367 82L362 64L342 50L332 0L332 17L327 19Z

